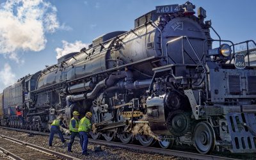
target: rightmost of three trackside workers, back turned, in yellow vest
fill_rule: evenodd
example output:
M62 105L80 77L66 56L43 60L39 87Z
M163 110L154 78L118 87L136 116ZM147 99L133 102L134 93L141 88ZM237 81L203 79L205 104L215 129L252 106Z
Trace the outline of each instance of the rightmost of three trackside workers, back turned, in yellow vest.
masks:
M82 147L82 155L88 155L87 153L87 145L88 145L88 132L90 129L92 129L91 124L92 119L92 113L87 112L86 115L80 120L78 131L81 137L81 140L83 141L83 147Z

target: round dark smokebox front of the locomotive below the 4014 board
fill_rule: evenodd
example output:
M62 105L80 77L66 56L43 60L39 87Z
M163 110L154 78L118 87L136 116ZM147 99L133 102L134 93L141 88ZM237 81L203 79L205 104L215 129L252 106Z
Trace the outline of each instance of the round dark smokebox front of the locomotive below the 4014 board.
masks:
M174 17L177 16L177 17ZM191 44L193 45L198 56L202 57L204 52L204 40L207 39L207 33L209 29L204 29L198 23L199 19L196 19L194 15L182 17L180 15L173 15L173 19L165 22L161 33L158 32L160 36L162 34L162 45L163 45L163 55L166 56L168 64L183 63L183 64L196 64L199 61L195 58L193 48L188 42L189 38ZM162 18L163 20L168 20L167 18ZM184 38L180 38L183 36ZM184 51L182 51L184 49ZM208 49L205 47L205 51Z

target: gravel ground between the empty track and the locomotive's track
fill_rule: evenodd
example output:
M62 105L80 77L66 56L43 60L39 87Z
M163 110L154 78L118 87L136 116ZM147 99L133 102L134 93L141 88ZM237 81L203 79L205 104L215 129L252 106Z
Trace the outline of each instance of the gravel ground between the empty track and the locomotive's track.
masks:
M143 152L138 150L132 150L122 147L113 147L108 145L100 145L102 148L101 152L94 152L93 147L99 144L90 143L88 144L88 156L81 155L81 147L78 141L75 141L72 146L72 153L67 152L67 147L63 147L60 141L60 138L54 138L52 143L53 147L49 147L48 136L41 136L41 135L33 135L29 136L28 133L25 132L18 132L18 131L11 131L8 129L0 129L0 134L5 136L10 136L12 138L16 138L20 141L26 141L28 143L32 143L34 145L38 145L40 147L49 148L51 150L55 150L57 152L61 152L64 154L68 154L72 157L77 157L79 159L184 159L181 157L176 156L167 156L163 154L152 154L150 152Z

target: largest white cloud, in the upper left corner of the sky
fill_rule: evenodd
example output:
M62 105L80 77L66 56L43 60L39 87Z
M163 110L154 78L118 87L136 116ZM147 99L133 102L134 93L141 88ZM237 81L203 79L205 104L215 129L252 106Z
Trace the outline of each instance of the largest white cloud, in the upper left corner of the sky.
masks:
M47 42L45 34L60 28L56 12L56 7L44 0L7 0L2 3L0 54L17 61L19 51L42 51ZM65 24L61 28L70 29Z

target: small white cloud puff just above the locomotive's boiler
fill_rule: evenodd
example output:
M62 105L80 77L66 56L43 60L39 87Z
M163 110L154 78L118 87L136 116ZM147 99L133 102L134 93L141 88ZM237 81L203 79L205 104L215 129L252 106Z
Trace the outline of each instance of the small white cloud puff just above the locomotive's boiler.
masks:
M55 51L57 52L56 58L61 58L70 52L79 52L83 47L88 48L88 44L83 44L81 41L76 41L73 44L68 43L67 41L62 41L62 48L56 48Z

